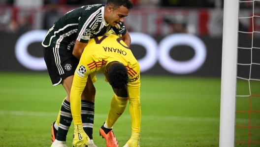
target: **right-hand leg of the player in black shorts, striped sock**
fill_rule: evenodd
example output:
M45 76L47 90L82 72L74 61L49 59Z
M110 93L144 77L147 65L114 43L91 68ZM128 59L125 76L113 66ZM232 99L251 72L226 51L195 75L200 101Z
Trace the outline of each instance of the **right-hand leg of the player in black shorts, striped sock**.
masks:
M81 96L81 118L83 123L83 129L90 138L90 140L88 140L89 147L97 147L93 142L93 125L96 95L96 88L93 82L95 81L96 74L91 74L88 76L86 87Z

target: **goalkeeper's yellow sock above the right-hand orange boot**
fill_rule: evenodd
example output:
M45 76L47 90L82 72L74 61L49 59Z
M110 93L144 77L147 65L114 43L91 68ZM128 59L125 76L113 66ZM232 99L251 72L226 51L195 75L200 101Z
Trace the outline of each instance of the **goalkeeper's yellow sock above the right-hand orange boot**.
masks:
M127 107L128 98L118 97L116 94L111 100L110 109L106 119L106 126L112 128L117 119L122 115Z

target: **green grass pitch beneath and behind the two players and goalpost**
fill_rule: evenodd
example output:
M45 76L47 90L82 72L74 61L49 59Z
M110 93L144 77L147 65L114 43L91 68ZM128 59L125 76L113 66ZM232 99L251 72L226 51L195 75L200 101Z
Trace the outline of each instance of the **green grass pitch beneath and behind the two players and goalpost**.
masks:
M242 82L239 91L246 93L247 85ZM97 75L95 87L94 142L106 147L98 130L106 120L113 91L103 75ZM255 83L251 90L259 87ZM221 78L141 75L140 146L218 147L220 93ZM46 73L0 73L0 147L50 147L51 124L65 96L63 86L52 86ZM246 118L241 116L237 122L247 124ZM73 129L72 124L68 147L72 147ZM129 107L113 130L123 147L131 135ZM247 132L241 134L248 138Z

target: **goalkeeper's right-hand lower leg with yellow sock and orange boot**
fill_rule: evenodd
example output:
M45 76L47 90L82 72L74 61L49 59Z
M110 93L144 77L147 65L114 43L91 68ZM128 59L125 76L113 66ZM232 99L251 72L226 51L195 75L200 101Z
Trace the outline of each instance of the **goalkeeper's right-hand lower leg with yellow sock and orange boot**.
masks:
M99 129L100 136L105 138L107 147L119 147L113 133L113 125L125 111L128 103L127 89L114 89L115 95L111 99L110 109L105 123Z

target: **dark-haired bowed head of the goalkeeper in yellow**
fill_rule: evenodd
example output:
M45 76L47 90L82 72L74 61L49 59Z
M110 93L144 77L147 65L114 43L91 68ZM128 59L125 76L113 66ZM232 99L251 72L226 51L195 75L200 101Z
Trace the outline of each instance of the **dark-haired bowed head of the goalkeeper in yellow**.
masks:
M127 86L127 68L122 63L114 63L108 70L109 83L113 88L122 89Z

